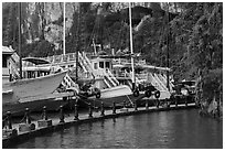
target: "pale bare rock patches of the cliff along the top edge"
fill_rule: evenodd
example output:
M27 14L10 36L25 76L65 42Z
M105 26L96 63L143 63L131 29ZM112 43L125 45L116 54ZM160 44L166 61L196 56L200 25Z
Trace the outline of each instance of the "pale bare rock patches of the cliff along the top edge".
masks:
M90 9L94 10L101 3L90 3ZM110 2L110 11L117 12L128 8L128 2ZM73 25L74 12L78 11L79 3L66 2L65 3L65 35L69 35L69 30ZM149 8L149 2L135 2L132 7L146 7ZM159 4L158 4L159 6ZM154 7L156 8L156 7ZM12 40L17 39L18 33L18 3L3 2L2 15L3 19L3 45L13 45ZM127 9L128 10L128 9ZM64 28L64 3L63 2L23 2L21 3L22 13L22 34L25 43L33 43L40 40L46 40L54 44L55 48L62 48L63 41L63 28ZM144 15L142 15L144 17ZM141 17L141 18L142 18ZM140 22L141 18L138 19ZM13 24L15 26L13 26ZM11 32L10 32L11 31ZM14 37L7 37L4 35L13 35Z

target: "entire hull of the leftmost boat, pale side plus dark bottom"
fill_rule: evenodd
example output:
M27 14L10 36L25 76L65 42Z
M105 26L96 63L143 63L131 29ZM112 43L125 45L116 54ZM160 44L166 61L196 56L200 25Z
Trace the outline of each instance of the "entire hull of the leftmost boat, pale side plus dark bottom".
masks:
M22 79L12 83L6 83L2 86L2 112L19 112L24 108L34 109L43 107L46 104L54 105L52 95L63 80L66 72L47 75L43 77Z

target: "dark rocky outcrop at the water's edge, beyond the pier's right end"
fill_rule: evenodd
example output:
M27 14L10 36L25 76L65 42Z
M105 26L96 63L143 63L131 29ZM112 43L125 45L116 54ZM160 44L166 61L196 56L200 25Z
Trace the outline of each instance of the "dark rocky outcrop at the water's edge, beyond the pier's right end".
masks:
M196 86L196 101L201 105L201 114L214 118L223 118L223 71L214 69L205 73Z

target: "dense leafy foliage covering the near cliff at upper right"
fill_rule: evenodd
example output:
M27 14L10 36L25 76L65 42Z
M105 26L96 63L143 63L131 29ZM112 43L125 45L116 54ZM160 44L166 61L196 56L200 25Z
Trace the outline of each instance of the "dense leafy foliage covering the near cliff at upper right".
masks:
M171 22L171 29L175 35L174 44L181 47L184 62L181 67L196 66L196 69L188 71L193 72L189 74L195 74L197 68L222 67L222 3L180 3L180 7L183 11ZM179 71L179 67L174 69L180 74L186 74Z

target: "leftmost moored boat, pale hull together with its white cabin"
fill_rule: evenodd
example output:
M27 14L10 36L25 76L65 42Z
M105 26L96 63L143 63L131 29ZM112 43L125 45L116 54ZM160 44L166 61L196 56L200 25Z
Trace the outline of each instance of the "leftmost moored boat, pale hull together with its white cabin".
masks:
M49 75L40 75L39 77L30 77L24 79L12 80L13 62L10 57L13 50L2 46L2 112L13 114L24 111L28 107L31 110L42 108L45 105L50 107L54 105L54 98L67 96L55 93L61 85L67 72L58 72ZM17 71L17 67L14 67ZM35 72L34 72L35 73Z

